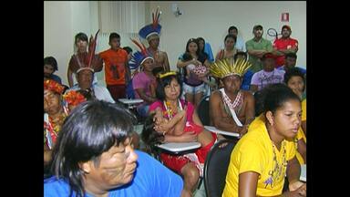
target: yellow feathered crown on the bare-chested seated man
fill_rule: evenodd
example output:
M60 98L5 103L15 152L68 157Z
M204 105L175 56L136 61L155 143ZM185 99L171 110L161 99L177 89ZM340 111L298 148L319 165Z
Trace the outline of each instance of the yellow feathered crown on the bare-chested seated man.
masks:
M252 64L245 59L239 58L232 64L231 59L219 60L210 66L211 74L216 78L225 78L231 75L238 75L242 78Z

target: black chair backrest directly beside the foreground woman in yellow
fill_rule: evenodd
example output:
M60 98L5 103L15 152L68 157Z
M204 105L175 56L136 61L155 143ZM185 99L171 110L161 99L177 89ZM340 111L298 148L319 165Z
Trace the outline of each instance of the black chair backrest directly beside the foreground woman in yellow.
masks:
M228 143L220 148L222 143ZM211 147L204 163L204 188L207 197L221 196L225 187L231 152L237 140L220 140Z

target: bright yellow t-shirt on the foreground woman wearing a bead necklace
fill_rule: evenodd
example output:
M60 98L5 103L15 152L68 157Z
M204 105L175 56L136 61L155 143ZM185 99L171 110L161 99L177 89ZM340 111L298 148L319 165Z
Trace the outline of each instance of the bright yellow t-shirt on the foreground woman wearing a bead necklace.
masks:
M274 167L276 167L276 162L273 160L273 150L279 166L283 166L281 171L273 171ZM222 196L238 196L239 174L246 171L255 171L260 174L256 191L257 195L280 195L283 190L286 161L293 159L295 150L296 147L293 140L283 140L281 152L273 148L273 142L270 140L264 124L264 117L261 115L254 119L247 134L238 141L232 150L231 161L226 175L226 185Z

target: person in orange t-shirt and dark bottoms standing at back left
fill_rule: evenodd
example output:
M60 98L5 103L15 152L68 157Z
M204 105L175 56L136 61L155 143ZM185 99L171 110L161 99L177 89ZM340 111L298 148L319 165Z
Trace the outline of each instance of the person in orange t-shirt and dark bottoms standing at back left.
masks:
M114 100L126 98L126 87L130 78L128 53L120 47L120 36L109 35L108 50L99 54L105 63L105 78L108 91Z

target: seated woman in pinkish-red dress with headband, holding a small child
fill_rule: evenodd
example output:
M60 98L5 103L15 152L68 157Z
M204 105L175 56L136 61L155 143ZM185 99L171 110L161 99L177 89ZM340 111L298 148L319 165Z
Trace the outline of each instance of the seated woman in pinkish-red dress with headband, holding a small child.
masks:
M193 105L180 99L182 87L179 83L179 78L180 76L176 72L168 72L157 78L156 93L159 100L149 107L149 114L156 111L158 111L158 114L154 118L154 130L153 127L145 127L145 129L149 128L150 131L148 132L153 133L152 136L160 137L162 135L160 137L162 141L190 142L198 139L201 142L201 149L196 150L195 153L181 156L167 153L160 154L160 159L166 166L183 176L185 182L184 190L190 196L190 193L196 188L200 173L202 173L203 163L217 136L208 130L204 130ZM160 118L161 116L169 121L164 121L164 119ZM178 119L180 122L176 123L177 121L173 119ZM185 120L188 123L184 124ZM159 133L156 134L155 131ZM143 136L149 138L149 135L143 134ZM146 139L145 141L152 140ZM153 140L153 142L158 143L159 141Z

